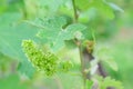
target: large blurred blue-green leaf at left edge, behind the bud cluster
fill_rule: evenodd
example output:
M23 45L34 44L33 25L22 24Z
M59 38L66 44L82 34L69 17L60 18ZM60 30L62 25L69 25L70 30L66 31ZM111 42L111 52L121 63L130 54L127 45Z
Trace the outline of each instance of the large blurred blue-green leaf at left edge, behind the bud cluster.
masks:
M23 62L20 71L28 72L28 76L30 76L29 69L33 72L33 67L21 50L21 41L23 39L34 39L37 30L25 23L19 23L20 19L19 13L4 13L0 17L0 51Z

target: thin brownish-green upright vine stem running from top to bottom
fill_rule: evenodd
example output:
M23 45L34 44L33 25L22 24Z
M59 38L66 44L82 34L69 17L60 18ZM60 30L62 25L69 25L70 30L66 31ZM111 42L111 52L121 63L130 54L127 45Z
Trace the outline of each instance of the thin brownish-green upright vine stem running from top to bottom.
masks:
M74 23L78 22L78 10L75 7L75 0L72 0L72 6L73 6L73 18L74 18ZM80 53L80 61L81 61L81 73L83 77L83 89L85 89L85 81L86 81L86 76L84 72L84 62L83 62L83 57L82 57L82 46L81 46L81 41L76 40L78 47L79 47L79 53Z

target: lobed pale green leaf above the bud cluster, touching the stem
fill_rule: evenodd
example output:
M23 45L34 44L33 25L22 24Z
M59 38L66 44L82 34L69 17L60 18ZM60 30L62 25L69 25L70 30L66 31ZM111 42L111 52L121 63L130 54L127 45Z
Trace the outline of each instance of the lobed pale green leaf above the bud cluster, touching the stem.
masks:
M65 40L81 37L79 32L86 29L81 23L65 26L66 20L63 17L53 17L43 21L44 29L37 34L44 43L50 43L53 51L64 47ZM65 27L65 28L64 28Z

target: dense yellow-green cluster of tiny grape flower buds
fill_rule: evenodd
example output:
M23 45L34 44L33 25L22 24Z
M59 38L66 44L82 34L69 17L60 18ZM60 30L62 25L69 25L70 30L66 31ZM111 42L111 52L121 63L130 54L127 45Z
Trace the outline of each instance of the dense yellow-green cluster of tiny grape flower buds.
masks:
M57 72L58 57L54 53L43 53L32 40L23 40L22 48L29 61L38 70L44 70L47 76L52 76Z

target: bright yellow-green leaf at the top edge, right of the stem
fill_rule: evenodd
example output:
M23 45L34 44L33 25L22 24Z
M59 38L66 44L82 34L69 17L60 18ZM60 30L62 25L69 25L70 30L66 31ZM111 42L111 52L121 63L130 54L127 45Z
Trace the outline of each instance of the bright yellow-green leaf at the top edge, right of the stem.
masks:
M75 0L76 7L82 11L89 11L91 9L96 10L100 14L104 16L108 19L114 18L114 10L122 11L121 8L114 3L104 1L104 0ZM86 13L89 14L89 13ZM86 17L88 19L88 17Z

